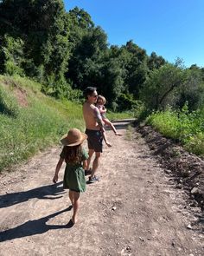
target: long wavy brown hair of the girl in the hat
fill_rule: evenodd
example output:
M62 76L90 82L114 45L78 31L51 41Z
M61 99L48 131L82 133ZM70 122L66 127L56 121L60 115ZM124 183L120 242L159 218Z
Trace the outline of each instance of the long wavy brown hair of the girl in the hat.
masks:
M72 147L64 147L65 150L65 162L78 163L81 161L82 147L81 144Z

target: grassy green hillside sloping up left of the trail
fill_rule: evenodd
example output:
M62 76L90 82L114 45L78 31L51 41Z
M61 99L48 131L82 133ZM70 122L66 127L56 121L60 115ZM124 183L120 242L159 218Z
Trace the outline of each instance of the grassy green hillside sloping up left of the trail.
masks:
M41 84L27 78L0 75L0 172L56 145L69 128L84 130L79 103L43 95Z

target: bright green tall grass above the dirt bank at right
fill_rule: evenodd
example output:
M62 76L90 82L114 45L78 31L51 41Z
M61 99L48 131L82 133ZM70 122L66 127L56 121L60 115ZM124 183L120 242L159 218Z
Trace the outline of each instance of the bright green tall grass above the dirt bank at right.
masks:
M189 152L204 155L204 109L189 112L187 105L181 111L169 108L151 114L147 123L163 135L181 141Z

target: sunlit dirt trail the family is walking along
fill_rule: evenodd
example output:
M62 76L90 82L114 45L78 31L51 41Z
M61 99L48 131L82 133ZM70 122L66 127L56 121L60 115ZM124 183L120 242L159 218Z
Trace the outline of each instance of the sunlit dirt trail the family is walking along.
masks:
M60 148L35 156L16 172L0 176L0 255L204 255L204 236L189 223L185 193L143 138L116 126L124 135L107 136L100 181L80 197L79 222L67 228L67 190L52 184Z

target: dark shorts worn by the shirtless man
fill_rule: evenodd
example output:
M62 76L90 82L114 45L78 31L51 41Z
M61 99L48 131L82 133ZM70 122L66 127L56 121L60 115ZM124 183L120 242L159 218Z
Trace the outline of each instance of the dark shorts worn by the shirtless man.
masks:
M88 148L93 149L95 152L103 152L103 135L101 131L86 129L88 136Z

